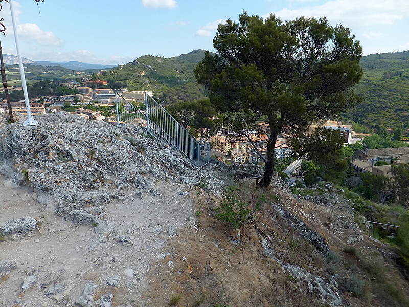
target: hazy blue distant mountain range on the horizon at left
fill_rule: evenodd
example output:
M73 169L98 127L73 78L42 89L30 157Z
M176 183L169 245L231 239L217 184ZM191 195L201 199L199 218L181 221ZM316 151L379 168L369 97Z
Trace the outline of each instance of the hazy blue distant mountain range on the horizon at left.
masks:
M4 54L4 65L16 65L18 64L18 58L15 55ZM77 61L70 62L49 62L49 61L33 61L28 58L22 58L24 64L31 64L36 66L61 66L67 69L72 69L76 71L87 70L87 69L104 69L116 67L116 65L103 65L103 64L89 64Z

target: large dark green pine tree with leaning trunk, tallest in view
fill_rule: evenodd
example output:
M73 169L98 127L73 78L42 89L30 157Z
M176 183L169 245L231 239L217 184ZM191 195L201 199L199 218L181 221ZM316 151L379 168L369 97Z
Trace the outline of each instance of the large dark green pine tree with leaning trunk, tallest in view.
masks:
M266 121L271 130L260 186L271 182L279 134L303 134L314 119L360 102L351 87L362 76L362 48L348 28L326 18L282 22L243 12L238 23L220 24L213 42L218 53L205 53L195 74L224 128L245 136Z

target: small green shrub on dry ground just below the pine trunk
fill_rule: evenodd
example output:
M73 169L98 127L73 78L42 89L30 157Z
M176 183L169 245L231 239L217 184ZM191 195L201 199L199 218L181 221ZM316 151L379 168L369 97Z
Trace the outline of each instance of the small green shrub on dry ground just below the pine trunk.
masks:
M238 229L255 221L255 213L260 210L264 201L265 195L252 195L248 202L239 187L229 186L223 194L215 217L229 228Z

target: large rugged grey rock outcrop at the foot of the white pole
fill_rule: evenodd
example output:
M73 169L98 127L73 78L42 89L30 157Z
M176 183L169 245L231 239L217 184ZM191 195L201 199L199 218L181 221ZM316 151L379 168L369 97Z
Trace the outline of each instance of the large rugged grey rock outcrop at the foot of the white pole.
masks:
M198 172L185 157L138 126L65 112L36 120L39 125L14 123L0 130L0 173L17 185L30 185L33 197L60 215L99 224L96 219L104 217L85 208L121 199L123 189L157 195L157 180L197 182ZM75 210L93 216L79 217Z

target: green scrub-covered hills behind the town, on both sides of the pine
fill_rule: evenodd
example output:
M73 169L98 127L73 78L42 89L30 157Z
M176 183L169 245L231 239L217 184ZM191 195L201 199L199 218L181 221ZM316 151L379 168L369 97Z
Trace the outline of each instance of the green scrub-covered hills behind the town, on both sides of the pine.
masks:
M108 87L152 91L164 104L199 100L206 97L206 91L197 84L193 69L204 54L204 50L194 50L172 58L144 55L98 78L107 80ZM363 101L341 114L342 118L375 129L399 125L409 129L409 51L370 54L362 57L360 64L364 74L356 92ZM28 84L80 77L75 70L60 66L25 64L25 71ZM7 67L7 80L10 86L21 83L18 65Z

